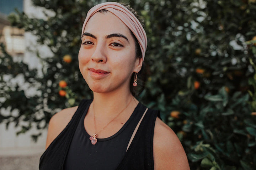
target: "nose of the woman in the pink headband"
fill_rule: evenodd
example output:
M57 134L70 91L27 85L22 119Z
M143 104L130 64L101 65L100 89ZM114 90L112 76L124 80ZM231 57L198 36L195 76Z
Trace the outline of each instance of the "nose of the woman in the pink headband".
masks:
M92 54L91 59L97 63L106 63L106 49L103 43L98 43L96 45L95 51Z

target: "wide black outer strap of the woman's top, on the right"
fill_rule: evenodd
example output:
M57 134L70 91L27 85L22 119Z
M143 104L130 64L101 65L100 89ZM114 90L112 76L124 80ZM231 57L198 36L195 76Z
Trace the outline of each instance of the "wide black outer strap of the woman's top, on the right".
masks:
M154 170L153 139L156 117L160 117L160 112L148 109L116 170Z

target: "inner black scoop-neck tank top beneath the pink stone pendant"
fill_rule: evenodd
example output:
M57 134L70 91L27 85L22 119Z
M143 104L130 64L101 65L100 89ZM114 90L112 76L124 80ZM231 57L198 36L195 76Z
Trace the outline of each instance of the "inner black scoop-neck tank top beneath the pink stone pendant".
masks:
M97 143L92 145L90 135L84 127L87 108L71 141L64 170L85 170L89 167L95 170L115 170L126 153L129 140L145 109L145 106L139 103L116 134L108 138L98 138Z

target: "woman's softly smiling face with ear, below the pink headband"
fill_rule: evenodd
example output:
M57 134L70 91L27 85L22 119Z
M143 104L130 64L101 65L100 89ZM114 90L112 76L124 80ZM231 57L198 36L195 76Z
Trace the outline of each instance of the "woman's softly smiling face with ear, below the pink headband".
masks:
M111 12L97 12L89 19L78 59L86 83L98 93L129 90L132 73L142 66L130 30Z

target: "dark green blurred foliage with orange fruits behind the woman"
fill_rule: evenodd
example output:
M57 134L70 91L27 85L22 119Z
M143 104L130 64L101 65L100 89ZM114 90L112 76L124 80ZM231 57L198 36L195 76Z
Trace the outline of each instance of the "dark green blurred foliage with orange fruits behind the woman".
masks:
M22 127L20 132L33 122L44 129L58 109L92 97L77 56L86 12L100 2L33 0L55 15L47 21L20 12L9 16L13 26L36 35L53 56L37 53L43 67L32 70L14 62L1 46L0 106L18 114L1 112L0 122L14 121ZM160 109L162 119L180 138L191 169L256 169L256 1L123 2L143 16L148 35L148 79L138 98ZM27 89L36 87L36 95L26 95L5 75L22 75ZM61 80L67 86L59 85Z

